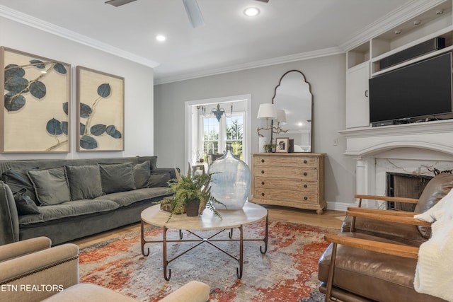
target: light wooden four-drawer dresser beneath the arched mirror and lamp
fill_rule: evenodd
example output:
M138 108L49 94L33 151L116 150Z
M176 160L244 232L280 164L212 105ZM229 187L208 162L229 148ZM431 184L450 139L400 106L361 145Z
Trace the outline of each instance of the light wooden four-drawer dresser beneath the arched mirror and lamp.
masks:
M325 153L252 153L252 200L322 214Z

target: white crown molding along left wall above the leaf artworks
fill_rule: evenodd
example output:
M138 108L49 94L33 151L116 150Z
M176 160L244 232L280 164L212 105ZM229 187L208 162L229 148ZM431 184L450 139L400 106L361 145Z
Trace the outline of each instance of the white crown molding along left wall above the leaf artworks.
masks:
M79 33L75 33L72 30L67 30L66 28L62 28L55 24L27 15L26 13L21 13L20 11L13 10L3 5L0 5L0 16L11 21L28 25L32 28L37 28L38 30L57 35L59 37L64 37L67 40L78 42L88 47L92 47L96 50L101 50L103 52L113 54L117 57L128 59L132 62L136 62L144 66L149 66L151 68L159 66L159 63L146 59L144 57L137 56L137 54L132 54L131 52L120 50L119 48L113 47L112 45L91 39L91 37L86 37L85 35L80 35Z

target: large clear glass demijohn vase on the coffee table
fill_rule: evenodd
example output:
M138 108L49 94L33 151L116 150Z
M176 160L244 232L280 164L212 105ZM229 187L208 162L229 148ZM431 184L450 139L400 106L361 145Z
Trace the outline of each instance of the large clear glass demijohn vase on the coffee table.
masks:
M242 209L250 190L251 172L246 163L231 153L231 144L226 144L224 156L212 162L209 173L212 173L212 196L226 209ZM224 209L220 204L216 208Z

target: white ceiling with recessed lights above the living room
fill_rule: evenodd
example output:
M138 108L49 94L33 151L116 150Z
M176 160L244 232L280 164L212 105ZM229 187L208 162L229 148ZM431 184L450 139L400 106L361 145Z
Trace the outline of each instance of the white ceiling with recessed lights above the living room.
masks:
M155 67L155 83L167 83L319 50L340 52L367 25L419 0L198 0L205 25L195 29L182 0L137 0L119 7L105 1L0 0L0 16L99 43ZM258 7L260 16L244 16L248 6ZM157 42L157 34L166 35L166 42Z

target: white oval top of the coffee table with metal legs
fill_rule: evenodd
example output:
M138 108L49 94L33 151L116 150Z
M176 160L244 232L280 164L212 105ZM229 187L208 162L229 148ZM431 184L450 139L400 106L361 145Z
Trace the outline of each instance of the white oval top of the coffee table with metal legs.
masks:
M205 209L203 214L195 217L188 217L186 214L173 214L167 222L170 213L161 210L161 205L142 211L142 220L153 226L166 226L180 230L210 230L220 228L236 228L246 224L260 221L268 215L268 210L259 204L246 202L240 210L218 210L222 218L215 216L210 209Z

